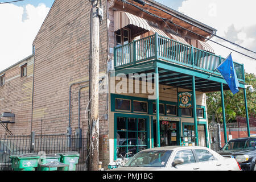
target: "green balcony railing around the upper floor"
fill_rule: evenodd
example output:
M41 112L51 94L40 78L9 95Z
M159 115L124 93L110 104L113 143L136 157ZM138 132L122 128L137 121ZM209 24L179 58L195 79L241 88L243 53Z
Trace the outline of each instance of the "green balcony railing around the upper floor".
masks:
M170 61L204 72L212 73L214 71L214 74L221 75L216 68L225 59L157 33L114 48L115 68L135 65L149 60ZM243 64L234 62L234 67L238 80L245 81Z

